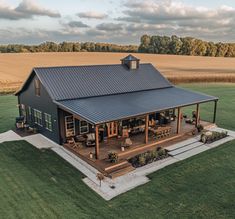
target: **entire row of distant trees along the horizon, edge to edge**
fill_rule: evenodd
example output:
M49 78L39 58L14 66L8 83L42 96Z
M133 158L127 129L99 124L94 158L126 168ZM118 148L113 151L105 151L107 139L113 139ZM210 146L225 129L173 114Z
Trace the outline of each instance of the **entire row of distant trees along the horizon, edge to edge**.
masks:
M207 42L193 37L143 35L140 45L94 42L45 42L39 45L0 45L0 53L24 52L129 52L190 56L235 57L235 43Z

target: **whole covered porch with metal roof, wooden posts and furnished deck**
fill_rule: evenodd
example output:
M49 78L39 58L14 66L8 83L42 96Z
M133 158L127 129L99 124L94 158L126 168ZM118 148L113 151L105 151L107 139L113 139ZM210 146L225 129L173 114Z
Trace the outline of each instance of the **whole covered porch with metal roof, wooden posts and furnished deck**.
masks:
M199 124L213 125L217 101L212 96L170 87L59 101L57 104L62 112L60 126L64 146L97 169L105 170L113 165L107 160L109 152L116 152L119 162L126 161L145 150L189 138ZM211 122L200 118L200 104L207 102L214 102ZM188 106L193 107L193 114L187 116L182 109ZM84 131L84 121L88 124L85 135L77 132L75 127L70 129L69 137L77 141L73 142L75 146L66 141L65 115L71 118L69 125L79 126L80 131ZM87 144L87 136L92 137L92 144Z

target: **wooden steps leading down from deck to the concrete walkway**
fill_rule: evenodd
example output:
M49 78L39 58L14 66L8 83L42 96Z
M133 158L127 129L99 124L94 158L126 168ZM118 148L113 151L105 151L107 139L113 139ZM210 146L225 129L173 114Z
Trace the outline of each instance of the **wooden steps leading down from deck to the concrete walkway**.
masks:
M129 173L134 169L135 168L128 161L125 160L116 165L106 168L105 172L107 173L108 177L114 179L118 176Z

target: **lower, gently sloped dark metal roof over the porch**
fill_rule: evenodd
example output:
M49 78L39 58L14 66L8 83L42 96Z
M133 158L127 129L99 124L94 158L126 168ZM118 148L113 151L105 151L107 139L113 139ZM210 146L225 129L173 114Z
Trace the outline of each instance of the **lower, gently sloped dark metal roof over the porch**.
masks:
M55 101L92 124L140 116L176 107L209 102L218 98L178 87Z

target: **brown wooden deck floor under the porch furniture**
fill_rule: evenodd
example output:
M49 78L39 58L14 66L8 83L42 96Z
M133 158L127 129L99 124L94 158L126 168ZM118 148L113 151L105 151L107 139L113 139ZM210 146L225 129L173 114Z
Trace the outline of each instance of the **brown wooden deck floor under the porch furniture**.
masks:
M210 122L201 121L200 122L205 128L213 125ZM100 159L96 160L95 156L94 158L90 158L90 153L92 152L95 154L95 148L94 147L86 147L83 146L79 150L74 151L72 148L69 148L68 145L66 145L66 148L71 150L73 153L78 155L80 158L88 162L90 165L95 167L97 170L103 172L104 174L107 174L108 172L111 172L111 169L120 169L120 167L126 166L126 160L138 155L140 153L143 153L148 150L153 150L159 146L161 147L167 147L172 144L176 144L178 142L187 140L192 137L192 130L195 129L194 125L187 124L185 122L182 122L181 132L180 134L176 134L177 124L176 122L171 123L171 134L169 137L164 137L161 139L156 139L153 137L152 134L149 135L149 142L148 144L145 144L145 134L138 134L135 136L130 137L133 144L132 146L125 148L125 151L121 150L121 143L123 142L123 139L118 139L117 137L110 138L107 140L107 142L101 142L100 143ZM108 161L108 153L110 151L117 152L119 157L119 162L112 164ZM127 169L130 169L130 167L127 167Z

